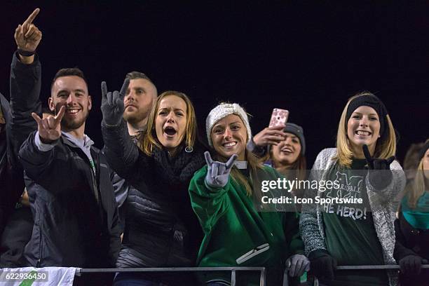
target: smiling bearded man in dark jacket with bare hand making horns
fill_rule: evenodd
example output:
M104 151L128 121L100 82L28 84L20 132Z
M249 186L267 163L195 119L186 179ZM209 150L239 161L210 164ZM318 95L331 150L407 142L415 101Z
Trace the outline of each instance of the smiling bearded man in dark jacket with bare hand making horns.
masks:
M30 266L114 266L120 248L118 209L104 155L85 135L92 107L80 69L55 75L50 110L22 144L20 161L34 216L25 247Z

